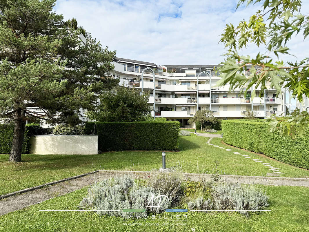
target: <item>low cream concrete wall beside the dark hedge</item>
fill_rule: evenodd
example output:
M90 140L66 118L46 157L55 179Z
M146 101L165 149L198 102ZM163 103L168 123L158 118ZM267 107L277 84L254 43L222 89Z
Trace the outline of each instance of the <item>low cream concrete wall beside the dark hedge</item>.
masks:
M30 154L98 154L98 135L36 135L30 138Z

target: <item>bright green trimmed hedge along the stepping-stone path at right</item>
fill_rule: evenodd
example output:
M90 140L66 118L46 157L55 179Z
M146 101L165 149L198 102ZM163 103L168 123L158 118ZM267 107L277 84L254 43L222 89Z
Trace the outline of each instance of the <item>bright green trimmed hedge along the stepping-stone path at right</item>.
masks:
M278 161L309 169L309 128L303 137L282 137L269 132L263 120L223 120L223 140L226 144L263 153Z

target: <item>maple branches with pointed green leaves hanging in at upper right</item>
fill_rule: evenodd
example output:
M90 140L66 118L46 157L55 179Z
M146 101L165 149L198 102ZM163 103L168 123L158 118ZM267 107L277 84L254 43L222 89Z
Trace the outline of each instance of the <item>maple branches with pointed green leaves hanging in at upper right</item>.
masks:
M300 13L300 0L240 0L237 8L243 4L262 4L261 9L247 21L242 20L238 25L227 24L221 35L220 42L228 49L220 71L222 79L219 85L230 84L230 89L251 89L256 84L260 88L259 97L268 88L287 88L298 101L303 101L303 95L309 97L309 58L303 57L298 62L284 63L279 60L280 54L290 54L286 46L293 41L296 34L302 34L304 41L309 34L309 15ZM239 52L250 43L266 52L260 52L256 57L241 55ZM259 67L257 69L257 67ZM250 71L245 76L243 70ZM256 96L255 89L252 98ZM302 134L309 122L306 111L296 112L291 117L276 117L271 119L271 131L279 130L282 135L294 136L298 131Z

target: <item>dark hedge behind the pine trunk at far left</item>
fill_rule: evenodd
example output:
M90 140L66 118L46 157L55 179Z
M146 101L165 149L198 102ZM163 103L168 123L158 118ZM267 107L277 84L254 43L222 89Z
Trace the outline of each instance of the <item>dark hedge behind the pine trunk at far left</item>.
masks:
M13 130L14 126L12 125L0 124L0 154L10 154L13 140ZM30 136L31 132L29 130L29 127L26 126L23 136L23 154L29 153Z

